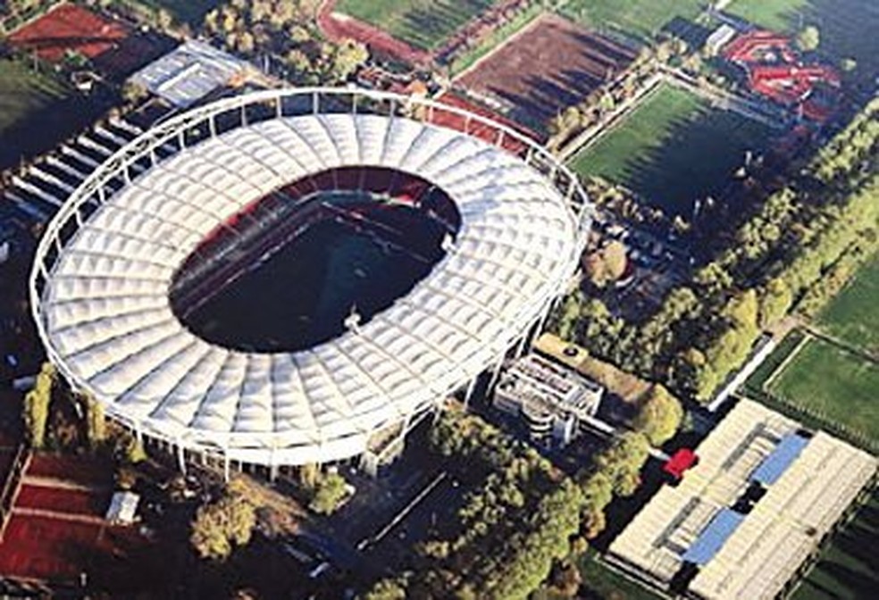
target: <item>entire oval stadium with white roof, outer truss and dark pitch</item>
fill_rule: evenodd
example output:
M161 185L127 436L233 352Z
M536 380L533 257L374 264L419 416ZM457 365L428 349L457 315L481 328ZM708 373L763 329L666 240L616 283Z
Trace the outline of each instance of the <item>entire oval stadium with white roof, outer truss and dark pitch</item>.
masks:
M138 439L273 477L472 392L542 327L590 215L551 154L480 115L252 92L98 167L40 240L31 306L65 379Z

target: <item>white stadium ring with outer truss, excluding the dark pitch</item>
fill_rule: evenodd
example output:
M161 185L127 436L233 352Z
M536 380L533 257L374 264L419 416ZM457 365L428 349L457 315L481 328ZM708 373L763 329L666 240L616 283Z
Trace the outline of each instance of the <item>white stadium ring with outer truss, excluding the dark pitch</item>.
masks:
M311 347L248 350L193 333L171 296L197 247L291 182L319 196L342 171L357 173L349 188L381 191L375 173L390 171L441 189L459 222L439 262ZM339 461L406 429L542 322L590 213L551 154L480 115L354 88L261 91L163 121L102 164L47 226L31 305L71 385L181 463Z

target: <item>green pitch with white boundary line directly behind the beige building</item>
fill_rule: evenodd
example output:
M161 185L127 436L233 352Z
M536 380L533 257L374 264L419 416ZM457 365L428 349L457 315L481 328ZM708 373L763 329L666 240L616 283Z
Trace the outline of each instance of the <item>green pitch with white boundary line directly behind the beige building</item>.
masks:
M768 391L825 421L879 441L879 364L845 348L810 340Z

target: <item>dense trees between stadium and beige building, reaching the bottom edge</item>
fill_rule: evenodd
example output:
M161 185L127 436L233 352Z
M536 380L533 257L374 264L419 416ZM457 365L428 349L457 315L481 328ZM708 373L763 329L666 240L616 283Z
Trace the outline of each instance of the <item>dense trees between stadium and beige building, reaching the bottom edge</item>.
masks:
M412 571L382 579L364 598L526 598L551 574L554 589L573 597L579 578L569 558L585 550L581 534L604 529L607 504L634 493L651 444L673 437L682 417L674 396L651 387L632 422L636 429L571 479L478 415L444 412L431 429L431 453L473 489L451 532L431 532Z

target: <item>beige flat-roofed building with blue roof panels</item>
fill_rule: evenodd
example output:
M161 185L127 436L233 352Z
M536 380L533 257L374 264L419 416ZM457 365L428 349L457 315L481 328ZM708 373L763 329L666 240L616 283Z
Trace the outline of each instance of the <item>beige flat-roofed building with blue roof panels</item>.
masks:
M783 593L875 478L876 459L741 400L609 548L657 587L704 600Z

